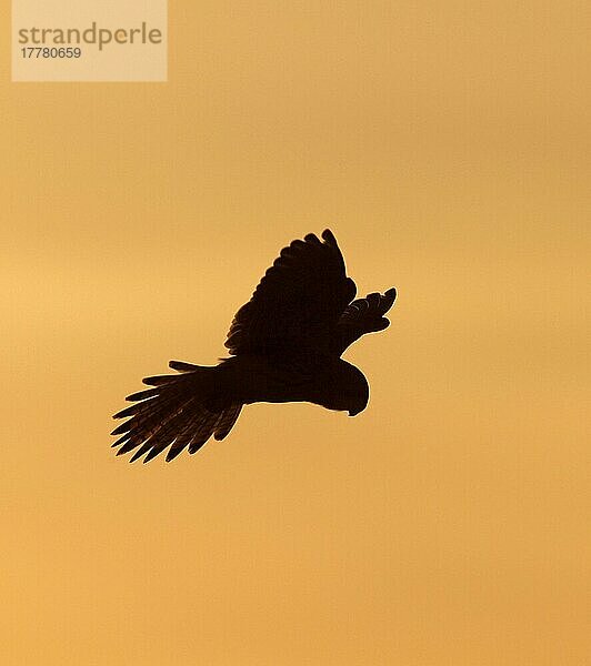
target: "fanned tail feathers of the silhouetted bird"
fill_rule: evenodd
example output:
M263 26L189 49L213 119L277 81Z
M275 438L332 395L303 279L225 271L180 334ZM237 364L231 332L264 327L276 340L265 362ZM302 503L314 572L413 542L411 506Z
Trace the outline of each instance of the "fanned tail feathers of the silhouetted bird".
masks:
M167 446L167 462L187 447L197 453L211 435L223 440L240 415L242 403L224 398L218 366L181 361L169 365L179 374L146 377L151 389L128 395L134 404L113 416L128 418L111 434L121 435L113 444L120 446L117 455L137 450L131 463L144 454L148 463Z

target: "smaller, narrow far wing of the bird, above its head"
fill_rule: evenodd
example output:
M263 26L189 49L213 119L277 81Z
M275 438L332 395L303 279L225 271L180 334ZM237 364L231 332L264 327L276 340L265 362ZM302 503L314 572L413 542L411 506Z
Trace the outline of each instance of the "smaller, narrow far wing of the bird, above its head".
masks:
M344 350L365 333L383 331L390 321L383 315L392 307L397 290L389 289L384 294L371 293L357 299L342 313L332 339L332 351L339 356Z

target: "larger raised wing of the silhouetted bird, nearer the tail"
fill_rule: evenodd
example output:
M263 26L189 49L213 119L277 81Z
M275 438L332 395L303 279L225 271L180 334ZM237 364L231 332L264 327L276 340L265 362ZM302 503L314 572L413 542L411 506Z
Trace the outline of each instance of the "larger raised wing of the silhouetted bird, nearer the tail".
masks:
M237 312L226 346L230 354L330 351L334 327L357 293L330 230L293 241Z

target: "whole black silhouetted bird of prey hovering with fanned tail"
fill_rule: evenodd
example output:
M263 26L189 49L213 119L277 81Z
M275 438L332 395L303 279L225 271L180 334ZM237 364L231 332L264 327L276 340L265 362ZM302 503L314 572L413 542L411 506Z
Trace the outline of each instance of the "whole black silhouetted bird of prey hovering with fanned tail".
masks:
M363 373L341 359L365 333L383 331L395 290L353 301L357 287L331 231L323 241L308 234L293 241L267 271L251 300L237 312L219 365L171 361L174 375L147 377L151 386L127 397L134 404L118 455L137 450L144 463L170 446L167 461L183 448L196 453L211 437L223 440L242 406L257 402L310 402L350 416L369 401Z

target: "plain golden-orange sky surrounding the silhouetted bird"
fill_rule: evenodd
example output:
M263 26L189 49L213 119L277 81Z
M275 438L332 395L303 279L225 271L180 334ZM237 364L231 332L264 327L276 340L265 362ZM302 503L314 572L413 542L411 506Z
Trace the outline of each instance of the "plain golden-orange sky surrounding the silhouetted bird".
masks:
M590 19L171 3L164 84L10 83L2 41L2 663L587 663ZM124 395L328 225L399 289L368 410L114 458Z

